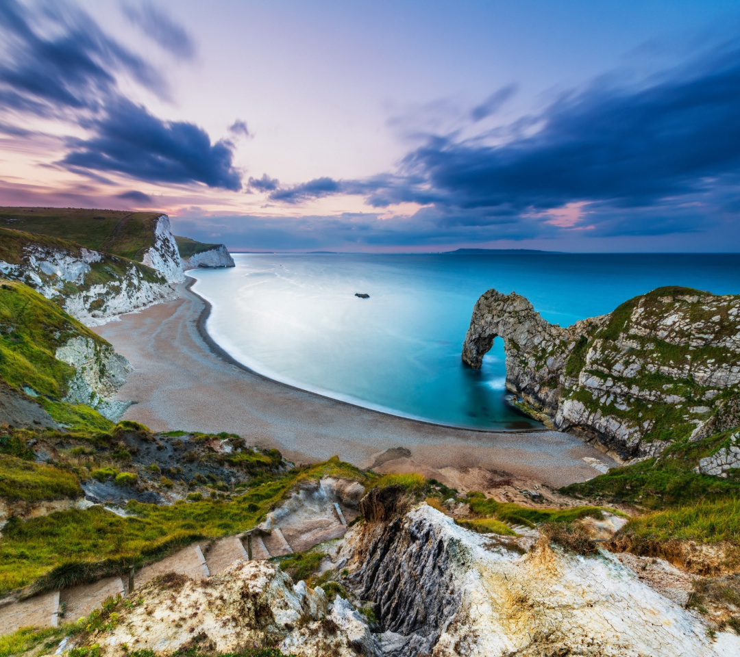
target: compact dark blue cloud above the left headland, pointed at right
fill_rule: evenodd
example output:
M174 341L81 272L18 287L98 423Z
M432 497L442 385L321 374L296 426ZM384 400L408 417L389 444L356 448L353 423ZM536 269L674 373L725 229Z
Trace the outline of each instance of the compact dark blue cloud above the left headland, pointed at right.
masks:
M70 139L62 166L118 171L151 183L205 183L238 190L232 145L211 143L208 134L184 121L163 121L142 106L119 100L90 123L94 137Z

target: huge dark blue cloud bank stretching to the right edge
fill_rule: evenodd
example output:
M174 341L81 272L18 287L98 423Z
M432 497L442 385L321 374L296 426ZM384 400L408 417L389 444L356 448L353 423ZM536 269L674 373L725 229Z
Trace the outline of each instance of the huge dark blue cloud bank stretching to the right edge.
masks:
M496 144L487 143L490 134L469 140L437 135L410 152L397 174L318 178L278 188L270 198L293 203L362 194L374 207L432 204L440 217L469 225L503 216L525 222L537 213L545 213L546 222L546 211L579 202L588 204L584 216L562 228L588 223L594 234L600 221L614 234L620 225L625 234L691 232L706 225L702 211L676 210L690 200L704 213L713 211L723 185L736 185L730 176L740 172L740 41L639 84L607 79L498 129ZM472 120L511 93L499 89L473 110ZM650 225L633 226L625 215Z

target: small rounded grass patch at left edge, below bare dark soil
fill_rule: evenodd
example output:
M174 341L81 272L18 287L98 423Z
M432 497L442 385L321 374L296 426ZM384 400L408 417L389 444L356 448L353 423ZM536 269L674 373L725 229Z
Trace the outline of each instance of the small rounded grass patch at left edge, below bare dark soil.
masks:
M0 455L0 498L9 502L39 502L81 496L82 489L74 474L18 457Z

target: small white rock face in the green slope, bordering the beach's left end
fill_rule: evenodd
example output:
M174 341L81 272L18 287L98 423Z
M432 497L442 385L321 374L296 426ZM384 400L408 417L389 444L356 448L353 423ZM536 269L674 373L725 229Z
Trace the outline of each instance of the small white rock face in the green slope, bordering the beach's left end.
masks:
M115 393L133 368L110 345L78 336L56 350L54 357L77 370L64 401L87 404L112 422L118 422L130 401L116 401Z

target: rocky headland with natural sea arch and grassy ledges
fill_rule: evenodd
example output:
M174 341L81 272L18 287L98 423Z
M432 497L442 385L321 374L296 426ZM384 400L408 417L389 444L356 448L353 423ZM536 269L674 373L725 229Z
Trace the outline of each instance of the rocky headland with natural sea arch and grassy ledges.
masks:
M623 460L739 421L740 296L662 287L562 328L523 296L488 290L462 360L480 367L496 337L520 408Z

